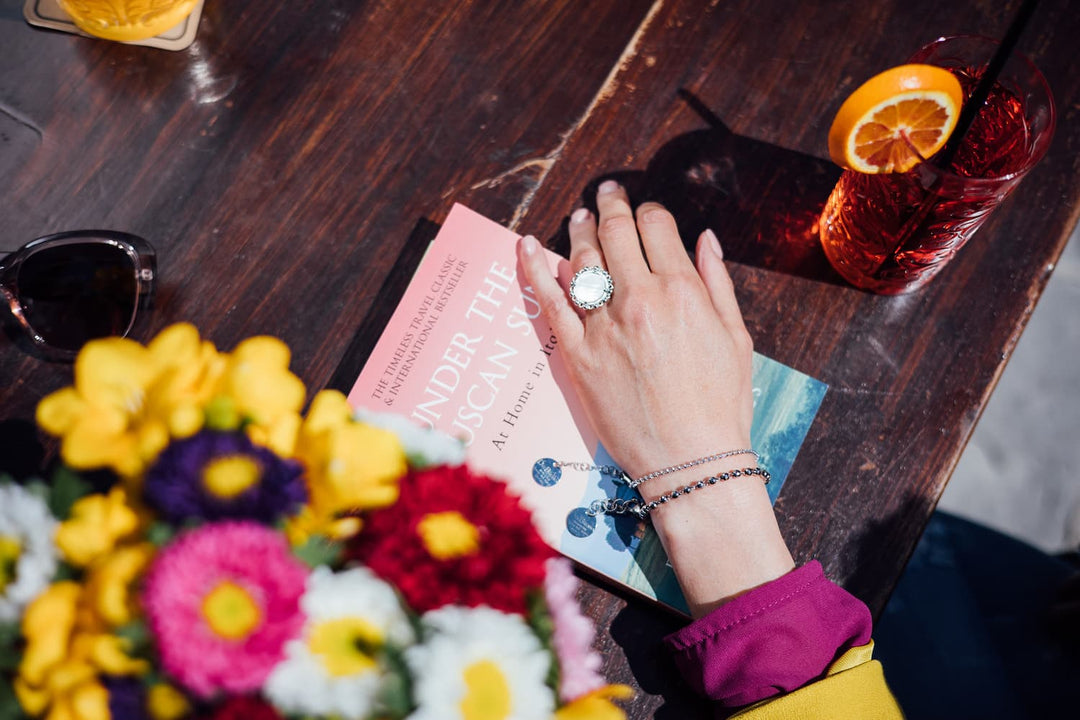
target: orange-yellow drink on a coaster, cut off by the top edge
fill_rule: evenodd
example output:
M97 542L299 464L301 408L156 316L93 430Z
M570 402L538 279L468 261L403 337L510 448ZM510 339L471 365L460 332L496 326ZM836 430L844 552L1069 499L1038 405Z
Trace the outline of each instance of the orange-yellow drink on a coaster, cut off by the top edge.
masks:
M132 42L146 40L180 24L199 0L59 0L80 30Z

